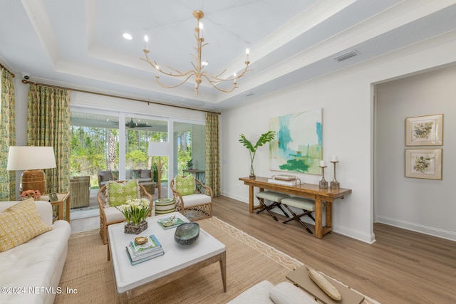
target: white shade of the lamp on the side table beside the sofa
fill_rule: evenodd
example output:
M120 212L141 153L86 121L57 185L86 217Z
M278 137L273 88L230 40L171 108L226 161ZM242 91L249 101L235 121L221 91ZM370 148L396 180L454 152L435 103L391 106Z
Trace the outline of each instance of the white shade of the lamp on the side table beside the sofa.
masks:
M9 147L7 170L30 170L55 168L53 147Z

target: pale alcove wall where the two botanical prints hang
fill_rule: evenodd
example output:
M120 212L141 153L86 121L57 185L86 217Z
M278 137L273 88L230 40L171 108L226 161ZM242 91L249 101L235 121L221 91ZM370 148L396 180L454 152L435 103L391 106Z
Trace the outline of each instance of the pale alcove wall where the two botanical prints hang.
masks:
M377 86L375 219L456 241L456 66ZM443 114L440 147L405 147L405 118ZM405 149L442 148L442 180L405 177Z

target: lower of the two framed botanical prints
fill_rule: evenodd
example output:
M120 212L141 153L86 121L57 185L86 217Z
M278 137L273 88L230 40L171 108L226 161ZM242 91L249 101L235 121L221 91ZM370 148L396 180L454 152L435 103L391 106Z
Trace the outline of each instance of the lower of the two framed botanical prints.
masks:
M442 149L405 149L405 177L442 179Z

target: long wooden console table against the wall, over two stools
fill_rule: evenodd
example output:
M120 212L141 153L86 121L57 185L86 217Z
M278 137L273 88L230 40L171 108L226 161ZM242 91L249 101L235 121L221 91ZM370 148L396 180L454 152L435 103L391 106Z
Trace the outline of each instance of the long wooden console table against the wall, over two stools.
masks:
M295 196L304 196L315 200L315 237L323 239L324 234L333 231L333 201L335 199L343 199L343 196L351 193L351 189L320 189L318 184L298 184L296 186L284 186L268 182L268 177L239 177L239 180L249 186L249 212L253 213L254 209L254 187L258 187L259 191L269 189L271 191L292 194ZM326 223L323 226L322 201L325 201Z

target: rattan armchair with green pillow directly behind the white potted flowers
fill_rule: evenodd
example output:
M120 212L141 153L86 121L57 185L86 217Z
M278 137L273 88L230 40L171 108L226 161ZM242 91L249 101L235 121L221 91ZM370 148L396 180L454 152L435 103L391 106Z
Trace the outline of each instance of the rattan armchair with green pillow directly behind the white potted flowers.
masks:
M125 190L122 187L125 187ZM125 204L127 199L140 198L149 199L150 210L152 210L152 195L147 193L136 179L111 181L100 188L97 199L100 206L100 236L103 239L103 244L108 243L108 226L125 221L125 216L115 206Z

